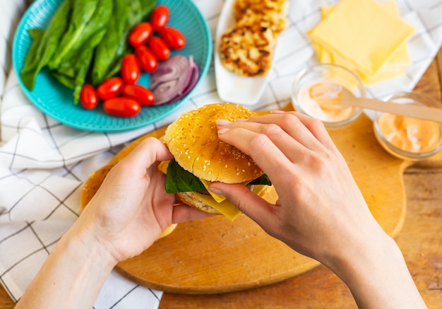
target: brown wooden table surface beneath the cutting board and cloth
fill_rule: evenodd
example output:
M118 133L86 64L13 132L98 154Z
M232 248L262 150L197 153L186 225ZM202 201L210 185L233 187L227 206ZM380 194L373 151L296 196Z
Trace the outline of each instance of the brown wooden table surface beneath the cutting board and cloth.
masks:
M442 99L442 49L415 91ZM405 170L407 218L396 241L429 308L442 304L442 153ZM0 286L0 309L14 303ZM356 308L345 284L322 265L249 291L217 295L164 293L160 308Z

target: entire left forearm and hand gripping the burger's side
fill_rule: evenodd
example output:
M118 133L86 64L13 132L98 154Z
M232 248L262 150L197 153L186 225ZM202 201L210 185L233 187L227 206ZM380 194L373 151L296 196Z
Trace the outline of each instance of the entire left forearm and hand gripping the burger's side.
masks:
M145 139L115 165L16 308L92 308L119 261L143 252L172 223L208 216L165 192L156 162L170 158L164 144Z

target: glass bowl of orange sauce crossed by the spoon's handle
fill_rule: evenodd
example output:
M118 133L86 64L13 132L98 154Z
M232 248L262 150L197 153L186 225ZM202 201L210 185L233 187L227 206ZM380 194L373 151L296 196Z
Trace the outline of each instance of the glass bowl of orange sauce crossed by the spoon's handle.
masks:
M422 93L395 93L385 100L442 108L442 103ZM375 112L373 126L379 144L388 153L401 159L422 160L442 148L442 124L438 122Z

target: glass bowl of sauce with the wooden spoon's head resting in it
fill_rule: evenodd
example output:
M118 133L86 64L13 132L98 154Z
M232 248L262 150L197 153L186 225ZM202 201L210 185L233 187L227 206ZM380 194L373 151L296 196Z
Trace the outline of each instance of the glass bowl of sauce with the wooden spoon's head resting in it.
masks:
M313 64L301 71L292 87L292 105L295 110L319 119L328 129L344 127L362 113L360 107L339 109L324 108L313 100L310 89L320 84L338 85L352 91L355 96L364 98L365 88L357 74L337 64Z

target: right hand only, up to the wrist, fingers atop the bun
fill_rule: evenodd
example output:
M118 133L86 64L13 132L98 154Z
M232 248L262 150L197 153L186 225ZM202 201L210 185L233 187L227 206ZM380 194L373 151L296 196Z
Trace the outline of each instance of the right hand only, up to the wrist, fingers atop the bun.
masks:
M218 123L220 139L253 158L279 199L269 204L239 185L214 183L210 190L222 191L270 235L325 264L360 239L368 243L385 236L321 122L297 112L273 112Z

